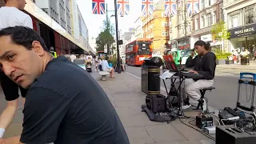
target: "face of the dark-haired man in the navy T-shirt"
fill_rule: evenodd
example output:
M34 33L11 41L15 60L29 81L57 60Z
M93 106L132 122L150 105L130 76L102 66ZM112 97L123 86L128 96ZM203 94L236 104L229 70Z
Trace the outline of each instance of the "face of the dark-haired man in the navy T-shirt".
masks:
M38 41L32 46L32 50L26 50L14 44L10 36L0 37L0 66L6 76L23 88L28 88L44 70L45 51Z

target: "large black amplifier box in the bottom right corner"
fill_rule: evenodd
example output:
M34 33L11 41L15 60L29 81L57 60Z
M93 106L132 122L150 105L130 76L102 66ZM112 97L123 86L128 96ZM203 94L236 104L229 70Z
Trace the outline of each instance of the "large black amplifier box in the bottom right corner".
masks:
M245 132L234 126L216 126L216 144L255 144L256 132Z

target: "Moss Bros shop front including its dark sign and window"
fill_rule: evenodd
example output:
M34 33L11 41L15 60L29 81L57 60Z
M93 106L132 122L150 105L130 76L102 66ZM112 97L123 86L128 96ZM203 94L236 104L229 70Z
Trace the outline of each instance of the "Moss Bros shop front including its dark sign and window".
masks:
M240 26L229 30L230 50L249 50L253 53L253 46L256 46L256 23L247 26Z

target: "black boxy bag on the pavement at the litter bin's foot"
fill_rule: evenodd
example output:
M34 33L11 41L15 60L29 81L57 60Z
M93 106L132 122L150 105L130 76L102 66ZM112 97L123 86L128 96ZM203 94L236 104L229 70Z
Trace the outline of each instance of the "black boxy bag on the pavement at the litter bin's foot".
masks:
M154 113L166 112L166 97L162 94L146 95L146 106Z

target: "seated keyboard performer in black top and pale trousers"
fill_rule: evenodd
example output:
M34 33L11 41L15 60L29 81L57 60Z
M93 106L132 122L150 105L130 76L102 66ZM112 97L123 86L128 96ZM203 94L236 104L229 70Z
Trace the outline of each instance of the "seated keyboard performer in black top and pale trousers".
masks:
M198 55L193 58L193 51L190 57L186 60L186 67L194 66L194 70L190 70L190 73L202 74L203 78L186 78L182 83L182 96L186 99L183 104L183 109L190 108L190 103L193 106L197 106L198 100L201 97L200 94L198 94L198 91L202 88L213 86L214 84L216 56L214 53L210 52L210 43L199 40L194 43L194 50ZM179 83L180 82L175 83L176 88L178 88ZM189 98L187 98L187 96ZM188 99L190 99L190 102ZM206 106L207 99L203 99L203 101L204 106Z

